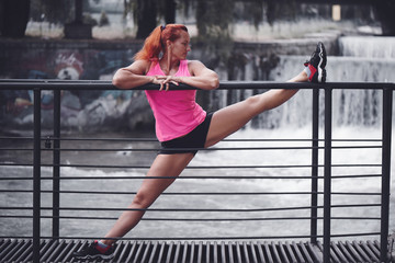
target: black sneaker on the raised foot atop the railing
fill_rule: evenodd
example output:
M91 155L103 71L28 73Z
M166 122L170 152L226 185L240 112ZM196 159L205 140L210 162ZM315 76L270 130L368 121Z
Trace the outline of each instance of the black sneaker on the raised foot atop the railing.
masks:
M325 83L326 80L326 50L321 42L318 42L316 50L312 54L308 61L304 64L311 71L308 81L315 83Z

